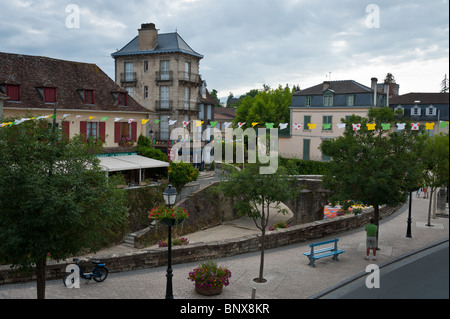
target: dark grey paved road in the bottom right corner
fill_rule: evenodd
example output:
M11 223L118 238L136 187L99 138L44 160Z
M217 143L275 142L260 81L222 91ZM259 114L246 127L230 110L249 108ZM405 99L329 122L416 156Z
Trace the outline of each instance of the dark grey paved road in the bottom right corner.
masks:
M322 299L448 299L449 243L413 254L385 267L380 265L379 288L374 273L333 290Z

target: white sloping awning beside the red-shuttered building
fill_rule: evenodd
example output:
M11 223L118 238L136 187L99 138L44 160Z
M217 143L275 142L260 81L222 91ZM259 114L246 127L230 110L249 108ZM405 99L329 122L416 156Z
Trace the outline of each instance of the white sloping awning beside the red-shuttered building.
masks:
M108 172L169 167L169 163L139 155L99 157L100 166Z

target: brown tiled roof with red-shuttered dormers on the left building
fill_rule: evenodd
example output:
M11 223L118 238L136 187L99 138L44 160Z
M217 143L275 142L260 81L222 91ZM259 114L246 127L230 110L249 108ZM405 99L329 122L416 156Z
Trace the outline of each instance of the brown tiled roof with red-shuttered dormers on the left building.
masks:
M5 107L53 109L44 103L38 87L57 88L57 108L114 112L145 112L128 96L128 106L117 106L113 92L126 92L97 65L40 56L0 52L0 85L19 84L20 102L6 102ZM85 105L77 90L95 91L95 104Z

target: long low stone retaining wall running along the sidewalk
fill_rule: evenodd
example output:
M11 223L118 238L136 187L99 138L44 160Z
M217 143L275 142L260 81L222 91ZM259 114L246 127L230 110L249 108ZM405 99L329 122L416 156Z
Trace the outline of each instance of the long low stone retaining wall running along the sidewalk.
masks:
M380 219L390 216L399 208L400 207L380 208ZM364 226L372 216L373 209L367 209L359 216L353 214L344 215L268 232L266 234L266 249L310 241L335 234L338 236L341 232ZM259 249L260 235L248 235L242 238L224 241L176 246L172 249L172 264L229 257L258 251ZM106 262L110 272L162 267L167 265L167 248L156 248L102 256L101 260ZM47 266L47 278L62 278L66 266L69 263L70 262L49 261ZM82 267L83 264L91 267L90 260L80 262ZM25 282L30 280L35 280L35 276L18 273L17 271L10 269L9 266L0 266L0 284Z

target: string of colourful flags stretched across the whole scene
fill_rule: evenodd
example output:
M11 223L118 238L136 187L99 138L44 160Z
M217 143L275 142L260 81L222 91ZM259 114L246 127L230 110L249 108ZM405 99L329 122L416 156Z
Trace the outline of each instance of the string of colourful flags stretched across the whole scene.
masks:
M69 117L69 116L71 116L71 114L64 114L64 115L62 116L62 118L63 118L63 119L66 119L66 118ZM75 117L76 117L76 118L81 118L81 117L83 117L83 116L81 116L81 115L76 115ZM22 119L20 119L20 120L15 120L15 121L12 121L12 122L4 122L4 123L1 123L1 124L0 124L0 127L4 127L4 126L12 126L12 125L19 125L19 124L21 124L21 123L23 123L23 122L26 122L26 121L29 121L29 120L34 120L34 119L40 120L40 119L55 119L55 118L56 118L56 114L50 114L50 115L46 115L46 116L37 116L37 117L31 117L31 118L22 118ZM88 116L88 119L89 119L90 121L92 121L92 120L94 120L94 119L97 119L97 120L100 120L100 121L104 122L104 121L108 120L109 117L106 117L106 116L101 116L101 117L97 117L97 116ZM121 121L121 120L123 120L122 117L115 117L115 118L114 118L114 122L119 122L119 121ZM133 119L133 118L128 118L128 119L126 119L126 120L128 121L128 123L132 123L132 122L135 121L135 119ZM150 119L141 119L141 124L142 124L142 125L147 124L147 122L148 122L149 120L150 120ZM160 121L161 121L161 120L155 120L155 124L158 124ZM178 122L177 120L169 120L169 123L168 123L168 124L169 124L169 126L172 126L172 125L175 125L177 122ZM190 122L191 122L191 121L183 121L183 122L182 122L183 127L186 128L186 127L189 125ZM204 121L199 121L199 120L195 120L195 121L193 121L193 122L195 123L195 126L196 126L196 127L201 127L201 126L204 124ZM210 121L210 122L209 122L209 126L210 126L211 128L214 128L218 123L219 123L218 121ZM232 122L224 122L224 123L223 123L223 127L224 127L225 129L227 129L227 128L229 128L232 124L233 124ZM247 123L246 123L246 122L238 122L238 125L237 125L237 126L238 126L239 128L242 128L245 124L247 124ZM258 125L258 124L263 124L263 123L260 123L260 122L252 122L252 123L251 123L251 126L252 126L252 127L255 127L255 126ZM272 128L274 128L275 123L264 123L264 125L265 125L266 129L272 129ZM423 124L421 124L421 123L419 123L419 122L417 122L417 123L411 123L411 130L417 131L417 130L419 130L419 128L420 128L421 125L423 125ZM426 122L426 123L425 123L425 129L426 129L426 130L434 130L435 125L436 125L436 123L434 123L434 122ZM448 122L448 121L440 121L440 122L439 122L439 128L446 128L448 125L449 125L449 122ZM280 124L279 124L279 129L283 130L283 129L287 128L288 126L289 126L288 123L280 123ZM344 128L346 128L346 126L347 126L347 124L345 124L345 123L337 123L338 129L344 129ZM389 131L389 130L391 130L392 126L393 126L393 124L391 124L391 123L382 123L382 124L381 124L381 129L382 129L382 130ZM303 123L293 123L293 129L294 129L295 131L301 130L303 127L305 127L305 129L308 129L308 130L314 130L314 129L317 129L317 128L320 128L320 127L322 128L322 130L330 130L331 127L332 127L332 124L331 124L331 123L323 123L322 126L320 126L320 125L318 125L317 123L306 123L305 125L304 125ZM352 123L352 124L351 124L351 127L352 127L352 129L353 129L354 131L359 131L359 130L361 129L361 124L360 124L360 123ZM373 130L376 129L377 124L376 124L376 123L367 123L367 124L366 124L366 127L367 127L367 130L373 131ZM395 127L396 127L397 130L399 130L399 131L404 130L404 129L406 128L406 123L396 123L396 124L395 124Z

